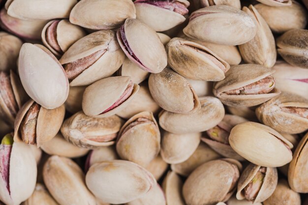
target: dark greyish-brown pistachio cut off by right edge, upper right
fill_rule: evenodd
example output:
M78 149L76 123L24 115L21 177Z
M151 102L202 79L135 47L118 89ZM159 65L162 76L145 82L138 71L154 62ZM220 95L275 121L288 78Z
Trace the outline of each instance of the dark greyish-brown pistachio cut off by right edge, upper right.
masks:
M308 68L308 30L292 29L276 41L277 52L293 66Z

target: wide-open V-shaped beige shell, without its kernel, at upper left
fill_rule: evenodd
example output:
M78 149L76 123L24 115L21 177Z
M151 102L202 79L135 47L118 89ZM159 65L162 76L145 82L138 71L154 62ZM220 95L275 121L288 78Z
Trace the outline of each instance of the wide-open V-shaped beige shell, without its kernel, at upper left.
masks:
M91 66L71 80L70 86L89 85L115 73L124 61L124 53L112 30L91 33L74 43L59 60L62 65L87 57L100 50L106 52Z

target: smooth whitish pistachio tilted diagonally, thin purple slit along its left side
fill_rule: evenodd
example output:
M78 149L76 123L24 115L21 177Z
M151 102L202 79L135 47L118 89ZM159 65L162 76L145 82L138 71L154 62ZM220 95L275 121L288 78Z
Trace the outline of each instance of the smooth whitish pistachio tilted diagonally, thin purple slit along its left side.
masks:
M141 69L160 73L167 66L164 45L148 25L128 18L117 31L117 37L125 55Z

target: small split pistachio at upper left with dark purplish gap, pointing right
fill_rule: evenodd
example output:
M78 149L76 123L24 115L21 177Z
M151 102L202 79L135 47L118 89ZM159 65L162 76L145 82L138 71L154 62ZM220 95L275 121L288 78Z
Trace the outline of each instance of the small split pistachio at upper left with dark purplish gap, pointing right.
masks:
M76 41L86 36L86 32L79 26L72 25L68 20L52 20L42 30L44 45L56 56L63 52Z

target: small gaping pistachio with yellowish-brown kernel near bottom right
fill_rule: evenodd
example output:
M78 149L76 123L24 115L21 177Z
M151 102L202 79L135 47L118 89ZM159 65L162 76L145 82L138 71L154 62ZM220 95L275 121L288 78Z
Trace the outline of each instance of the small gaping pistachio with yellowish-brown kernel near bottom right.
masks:
M275 191L277 181L276 168L249 164L239 179L236 198L256 203L264 202Z

